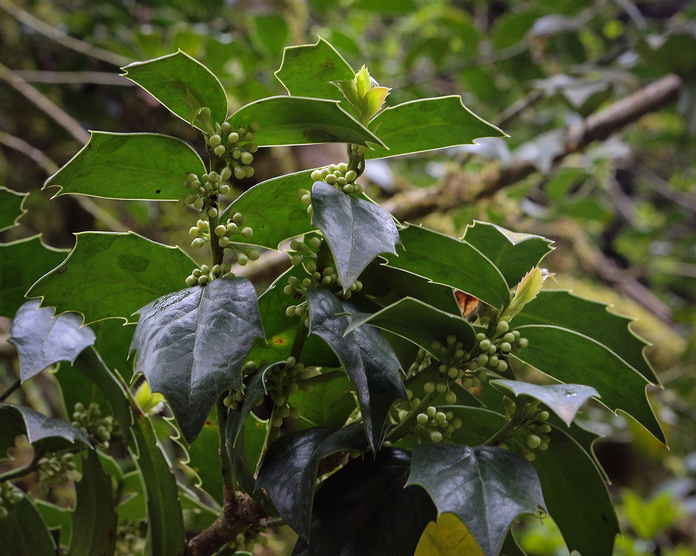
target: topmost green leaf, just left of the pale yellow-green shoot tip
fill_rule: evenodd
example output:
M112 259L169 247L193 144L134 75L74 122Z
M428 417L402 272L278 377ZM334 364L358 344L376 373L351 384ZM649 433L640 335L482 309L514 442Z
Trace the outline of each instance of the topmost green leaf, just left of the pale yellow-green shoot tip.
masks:
M319 37L315 45L287 47L276 77L289 95L343 100L331 81L353 79L355 72L329 42Z

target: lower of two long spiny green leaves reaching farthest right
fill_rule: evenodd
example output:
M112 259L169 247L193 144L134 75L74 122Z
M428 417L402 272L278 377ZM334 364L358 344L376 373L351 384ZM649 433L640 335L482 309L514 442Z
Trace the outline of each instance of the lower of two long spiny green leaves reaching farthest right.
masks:
M662 443L665 435L645 393L648 381L596 340L558 326L528 324L516 328L529 346L513 358L563 383L596 388L601 403L625 411Z

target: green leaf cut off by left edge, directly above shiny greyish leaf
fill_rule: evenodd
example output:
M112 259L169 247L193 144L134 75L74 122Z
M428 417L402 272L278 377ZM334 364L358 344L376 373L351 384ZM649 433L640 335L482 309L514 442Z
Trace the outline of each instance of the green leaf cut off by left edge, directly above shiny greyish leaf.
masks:
M40 235L0 244L0 317L14 318L31 285L67 256L68 249L48 247Z

